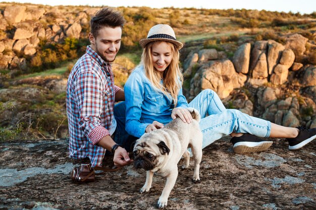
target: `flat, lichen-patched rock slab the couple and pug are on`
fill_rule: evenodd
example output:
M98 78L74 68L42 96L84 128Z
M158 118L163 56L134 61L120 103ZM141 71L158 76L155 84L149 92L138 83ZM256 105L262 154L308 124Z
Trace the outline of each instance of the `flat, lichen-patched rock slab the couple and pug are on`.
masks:
M201 183L192 183L192 159L179 170L166 209L315 209L316 141L289 151L276 139L265 152L239 155L229 140L203 150ZM150 192L141 194L146 173L133 166L74 184L70 173L79 164L68 158L68 142L1 143L0 209L156 209L165 179L154 176Z

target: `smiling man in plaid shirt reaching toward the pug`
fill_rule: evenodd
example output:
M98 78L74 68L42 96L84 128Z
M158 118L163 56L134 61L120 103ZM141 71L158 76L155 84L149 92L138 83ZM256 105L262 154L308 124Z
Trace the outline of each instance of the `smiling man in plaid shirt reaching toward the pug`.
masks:
M122 14L109 8L98 11L90 21L86 53L78 59L67 83L69 156L89 158L91 166L101 166L106 150L114 154L117 166L130 164L123 144L125 131L124 91L114 85L110 62L121 46Z

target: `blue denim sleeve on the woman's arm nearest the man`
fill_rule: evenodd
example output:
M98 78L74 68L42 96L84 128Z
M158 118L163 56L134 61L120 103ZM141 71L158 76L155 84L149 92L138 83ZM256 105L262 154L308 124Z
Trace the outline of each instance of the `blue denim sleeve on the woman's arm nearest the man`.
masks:
M145 133L149 123L141 123L142 103L144 101L144 86L140 75L132 73L124 86L126 104L126 131L140 137Z

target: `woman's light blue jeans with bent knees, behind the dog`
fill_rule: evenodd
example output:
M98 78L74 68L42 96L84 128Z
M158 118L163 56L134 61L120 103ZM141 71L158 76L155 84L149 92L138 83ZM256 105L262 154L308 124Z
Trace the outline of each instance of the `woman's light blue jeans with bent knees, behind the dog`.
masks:
M204 90L190 103L201 115L200 128L203 133L202 148L232 132L250 133L258 137L269 137L271 122L249 116L236 109L226 109L213 90Z

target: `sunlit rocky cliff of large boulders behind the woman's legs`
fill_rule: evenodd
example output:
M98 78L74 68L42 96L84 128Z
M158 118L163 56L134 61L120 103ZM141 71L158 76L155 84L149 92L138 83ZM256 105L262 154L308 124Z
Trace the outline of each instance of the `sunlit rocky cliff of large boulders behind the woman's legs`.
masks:
M244 43L232 60L216 49L191 51L183 62L189 78L187 98L201 90L218 93L228 108L237 108L284 126L316 127L316 66L295 62L316 51L313 41L300 34L274 40Z

